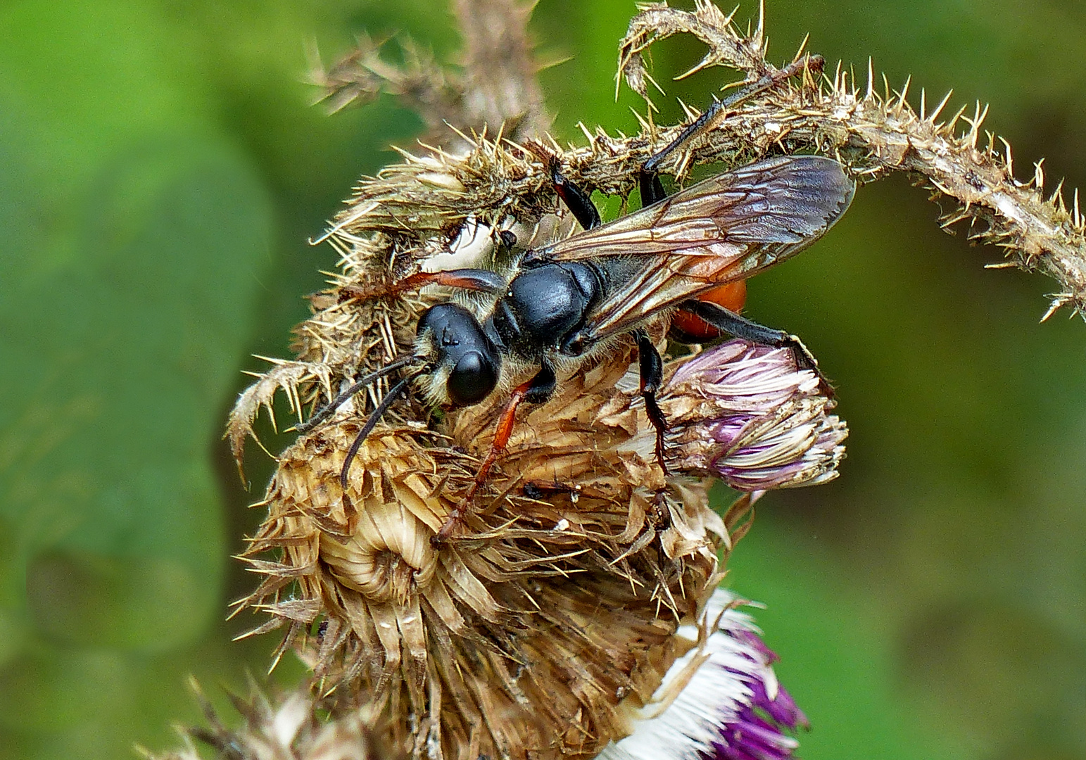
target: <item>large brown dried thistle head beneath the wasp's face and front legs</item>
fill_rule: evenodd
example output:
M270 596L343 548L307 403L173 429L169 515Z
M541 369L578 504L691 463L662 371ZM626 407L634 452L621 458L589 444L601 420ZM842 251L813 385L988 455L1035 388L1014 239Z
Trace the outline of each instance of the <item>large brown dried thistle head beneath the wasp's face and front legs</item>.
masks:
M728 543L707 483L653 482L654 465L620 452L627 433L592 425L629 358L578 372L533 409L470 539L437 548L489 446L493 406L451 423L464 451L378 427L345 493L361 422L302 438L279 458L245 553L264 580L240 606L270 616L257 631L287 628L280 651L295 646L338 705L379 706L400 751L596 753L623 735L623 699L647 698L677 656L673 635L716 586Z

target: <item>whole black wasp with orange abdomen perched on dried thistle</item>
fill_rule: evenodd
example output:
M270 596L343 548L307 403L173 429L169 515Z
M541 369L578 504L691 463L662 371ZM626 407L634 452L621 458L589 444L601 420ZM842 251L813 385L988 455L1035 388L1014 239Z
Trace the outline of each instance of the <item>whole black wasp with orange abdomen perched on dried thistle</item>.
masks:
M703 334L718 331L786 346L800 367L817 371L813 356L798 338L745 319L712 299L730 296L728 286L798 253L841 218L855 190L841 164L812 155L779 156L711 177L671 197L665 195L657 175L667 155L708 129L728 105L772 86L794 67L727 101L715 101L652 156L640 173L640 211L601 224L588 193L568 181L558 162L552 161L555 190L584 231L521 252L506 276L488 269L452 269L418 273L394 283L389 293L440 284L489 300L478 313L452 302L431 306L419 319L414 353L362 378L299 426L312 429L363 387L395 369L411 368L370 415L348 453L341 472L344 490L358 446L416 378L422 379L422 390L434 405L470 406L498 389L510 391L490 452L462 504L438 533L441 541L458 524L508 443L519 404L547 401L559 370L576 369L626 335L637 347L640 392L656 429L657 461L664 467L667 421L655 397L662 360L646 330L659 320L681 314L683 333L690 333L693 325ZM502 244L512 251L515 236L503 232ZM514 385L529 369L534 375Z

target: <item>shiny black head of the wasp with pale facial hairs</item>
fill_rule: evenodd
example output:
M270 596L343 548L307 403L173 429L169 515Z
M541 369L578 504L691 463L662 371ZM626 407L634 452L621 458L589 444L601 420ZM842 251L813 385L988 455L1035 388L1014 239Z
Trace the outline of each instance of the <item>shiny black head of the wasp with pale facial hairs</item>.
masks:
M471 406L497 385L502 356L479 320L463 306L431 306L418 321L417 335L420 349L434 365L435 377L444 378L444 401Z

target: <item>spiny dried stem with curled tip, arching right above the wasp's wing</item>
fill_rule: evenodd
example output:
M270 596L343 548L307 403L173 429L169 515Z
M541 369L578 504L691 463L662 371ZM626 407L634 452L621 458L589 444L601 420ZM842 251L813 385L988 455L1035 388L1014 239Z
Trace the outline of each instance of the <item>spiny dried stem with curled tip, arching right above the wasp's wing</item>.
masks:
M708 0L696 0L694 11L668 8L666 2L639 8L619 46L619 73L643 97L647 90L641 53L677 34L693 35L709 47L682 76L725 66L755 80L776 71L766 61L763 12L754 31L744 35L732 23L734 12L725 15ZM862 85L851 68L837 64L824 81L779 90L753 103L723 122L700 149L681 157L677 173L685 170L691 160L754 157L774 150L835 156L861 182L908 172L932 191L933 200L955 202L955 210L942 216L944 228L968 220L971 241L1005 249L1007 261L993 266L1040 271L1059 283L1043 319L1063 306L1086 317L1086 219L1078 191L1070 210L1062 181L1046 195L1041 161L1026 181L1015 179L1010 143L981 131L987 106L977 103L969 114L962 105L939 121L950 92L929 107L921 90L918 111L906 100L909 81L895 92L885 76L881 83L876 79L870 60L866 68Z

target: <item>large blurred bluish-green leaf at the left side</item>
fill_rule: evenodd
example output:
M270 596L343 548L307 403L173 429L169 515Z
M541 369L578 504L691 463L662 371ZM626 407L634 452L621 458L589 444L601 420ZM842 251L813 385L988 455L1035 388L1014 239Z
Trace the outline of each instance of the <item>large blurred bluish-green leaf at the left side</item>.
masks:
M23 362L0 377L18 410L3 435L34 442L3 480L20 492L5 508L31 555L38 544L180 561L206 620L225 536L199 453L248 338L269 218L243 163L193 148L154 140L103 163L64 241L71 265L24 279L4 303L5 350ZM43 511L53 534L35 535Z

